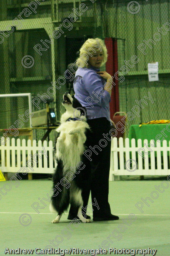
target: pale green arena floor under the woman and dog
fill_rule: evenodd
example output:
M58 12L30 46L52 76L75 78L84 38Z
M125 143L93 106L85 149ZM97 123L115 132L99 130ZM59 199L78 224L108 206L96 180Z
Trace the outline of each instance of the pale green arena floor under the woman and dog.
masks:
M0 188L8 183L9 181L0 182ZM61 249L78 247L79 249L103 248L107 250L108 247L116 249L147 249L150 247L150 249L158 250L156 256L169 256L170 187L164 189L162 193L157 191L159 198L151 198L151 192L156 191L155 186L159 186L161 183L162 180L110 182L109 202L112 213L119 215L119 221L91 221L91 223L81 223L77 226L72 223L68 226L70 221L67 220L67 214L62 215L59 224L51 224L51 220L56 215L49 213L47 201L47 206L44 209L39 209L40 214L31 207L34 202L40 203L42 198L48 199L47 194L51 189L52 181L22 180L17 188L12 185L7 195L0 194L2 196L0 200L0 256L4 255L6 247L9 249L18 247L21 249L35 249L36 247L45 249L50 245L49 240L51 242L54 240L55 245L51 245L51 247ZM163 186L165 187L166 183ZM9 186L6 186L6 189L8 188ZM2 191L5 190L2 189ZM156 194L152 195L156 197ZM150 207L144 204L142 213L135 207L135 204L141 201L141 198L146 197L150 197L153 203L150 202ZM40 203L40 206L43 204ZM28 226L23 226L19 222L20 215L23 213L28 213L31 216L31 224ZM133 221L126 220L130 213L135 215L136 219ZM27 218L23 221L27 221ZM58 241L58 246L56 246L55 239Z

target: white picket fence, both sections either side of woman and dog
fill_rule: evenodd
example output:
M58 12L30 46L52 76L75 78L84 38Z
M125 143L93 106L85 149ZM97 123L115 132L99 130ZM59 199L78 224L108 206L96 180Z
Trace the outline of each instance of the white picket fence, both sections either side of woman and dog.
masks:
M144 140L145 153L142 157L137 151L142 148L142 140L130 141L113 138L111 142L111 169L109 180L114 180L114 176L120 175L170 175L170 141L156 142L156 147L148 145ZM150 144L154 144L151 140ZM152 151L152 152L151 152ZM156 153L155 153L156 152ZM37 155L36 155L37 154ZM144 159L145 158L145 159ZM31 163L32 161L32 163ZM57 166L53 157L53 142L42 142L39 140L7 140L5 145L0 145L0 170L2 172L29 172L29 173L54 173ZM24 168L26 167L26 168Z

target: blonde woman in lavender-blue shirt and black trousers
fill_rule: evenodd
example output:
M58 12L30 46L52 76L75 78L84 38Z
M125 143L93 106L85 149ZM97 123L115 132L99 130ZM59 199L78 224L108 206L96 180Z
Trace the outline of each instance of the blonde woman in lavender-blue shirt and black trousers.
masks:
M91 127L91 133L87 136L88 150L91 151L91 156L87 157L88 161L86 159L85 165L86 172L91 169L94 221L119 219L118 216L111 214L108 203L111 151L109 102L111 101L112 77L107 72L99 70L107 61L107 56L107 49L103 41L99 38L89 38L80 49L77 59L78 69L74 79L74 96L86 108L87 122ZM107 145L102 143L102 139L105 137L107 137ZM89 188L87 188L85 197L84 207L88 203ZM98 207L96 207L96 202ZM71 215L76 215L74 209L70 209L68 218Z

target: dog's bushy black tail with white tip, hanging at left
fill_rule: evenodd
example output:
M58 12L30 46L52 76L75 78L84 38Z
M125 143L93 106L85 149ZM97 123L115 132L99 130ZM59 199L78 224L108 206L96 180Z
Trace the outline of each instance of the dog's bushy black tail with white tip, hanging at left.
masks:
M66 186L67 184L64 183L62 169L62 160L59 160L53 177L53 195L50 204L50 211L59 214L67 210L69 205L69 184Z

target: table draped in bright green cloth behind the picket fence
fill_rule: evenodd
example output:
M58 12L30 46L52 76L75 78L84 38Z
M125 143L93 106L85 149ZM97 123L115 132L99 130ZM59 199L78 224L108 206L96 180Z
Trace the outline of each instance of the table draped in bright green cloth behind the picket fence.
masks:
M162 131L162 132L161 132ZM136 146L137 146L137 140L142 140L142 147L144 146L144 139L147 139L148 143L150 143L150 140L154 140L156 143L156 140L162 140L164 137L164 140L167 140L167 145L169 145L170 140L170 123L168 124L156 124L156 125L131 125L128 138L130 140L131 145L131 139L134 138L136 140ZM154 143L152 143L154 144ZM162 145L162 142L161 142Z

